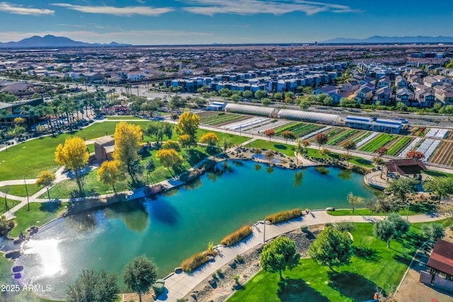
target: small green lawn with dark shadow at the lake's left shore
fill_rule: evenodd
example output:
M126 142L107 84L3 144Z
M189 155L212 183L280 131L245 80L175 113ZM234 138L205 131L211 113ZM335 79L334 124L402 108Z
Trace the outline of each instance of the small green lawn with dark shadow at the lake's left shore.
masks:
M14 219L16 226L9 232L9 236L17 237L19 233L25 233L30 226L42 226L57 218L66 205L67 202L32 202L30 203L30 211L25 205L25 207L16 211L16 218Z

